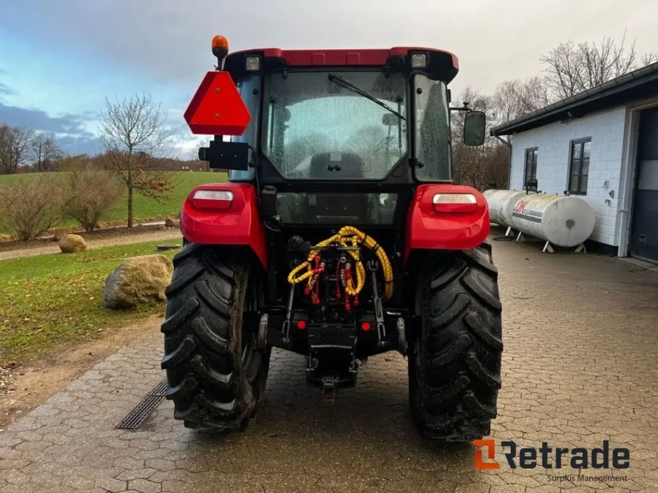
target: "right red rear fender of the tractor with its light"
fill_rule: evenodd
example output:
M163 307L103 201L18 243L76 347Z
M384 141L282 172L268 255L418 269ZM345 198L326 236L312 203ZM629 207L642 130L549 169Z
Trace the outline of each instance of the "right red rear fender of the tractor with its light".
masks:
M415 249L478 247L490 228L489 207L476 189L464 185L420 185L407 213L405 261Z

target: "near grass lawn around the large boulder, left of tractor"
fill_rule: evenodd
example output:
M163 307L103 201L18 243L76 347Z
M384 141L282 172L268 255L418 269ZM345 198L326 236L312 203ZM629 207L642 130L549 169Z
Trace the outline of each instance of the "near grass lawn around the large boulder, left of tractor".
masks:
M105 278L123 258L155 253L159 241L0 262L0 366L55 352L104 329L164 315L164 303L134 311L102 308ZM173 242L172 242L173 243ZM172 258L180 250L168 250Z

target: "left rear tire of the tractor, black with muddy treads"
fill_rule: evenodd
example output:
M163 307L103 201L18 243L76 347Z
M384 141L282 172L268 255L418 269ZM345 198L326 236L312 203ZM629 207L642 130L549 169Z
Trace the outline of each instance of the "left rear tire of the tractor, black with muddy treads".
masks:
M188 243L166 290L164 357L174 418L201 431L243 429L265 392L257 349L263 288L238 256Z

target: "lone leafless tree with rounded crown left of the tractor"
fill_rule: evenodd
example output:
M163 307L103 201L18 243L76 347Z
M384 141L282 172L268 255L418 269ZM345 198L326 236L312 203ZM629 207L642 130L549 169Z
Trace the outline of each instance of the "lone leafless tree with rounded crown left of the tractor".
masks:
M132 227L135 192L161 201L174 188L171 174L155 169L172 149L166 114L150 95L114 103L106 98L100 138L114 174L128 188L128 227Z

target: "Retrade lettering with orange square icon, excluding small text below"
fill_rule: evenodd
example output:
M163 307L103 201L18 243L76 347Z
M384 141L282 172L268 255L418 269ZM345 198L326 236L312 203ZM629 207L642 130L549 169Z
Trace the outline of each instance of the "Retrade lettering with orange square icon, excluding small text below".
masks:
M519 448L516 442L500 442L503 456L511 469L628 469L630 467L630 450L628 448L610 449L610 442L603 440L601 448L552 448L543 442L540 448ZM495 440L473 440L475 450L475 469L500 469L495 459ZM486 461L484 455L486 454Z

